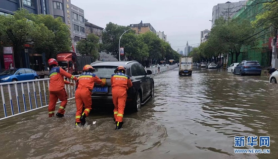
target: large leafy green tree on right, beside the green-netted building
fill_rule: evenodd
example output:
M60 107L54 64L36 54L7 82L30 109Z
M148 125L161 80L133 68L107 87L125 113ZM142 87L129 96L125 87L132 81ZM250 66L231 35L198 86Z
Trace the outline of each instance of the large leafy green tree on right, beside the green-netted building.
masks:
M222 17L215 21L209 39L200 45L201 54L205 58L236 53L236 62L243 46L254 46L257 43L254 28L248 20L232 19L225 21Z

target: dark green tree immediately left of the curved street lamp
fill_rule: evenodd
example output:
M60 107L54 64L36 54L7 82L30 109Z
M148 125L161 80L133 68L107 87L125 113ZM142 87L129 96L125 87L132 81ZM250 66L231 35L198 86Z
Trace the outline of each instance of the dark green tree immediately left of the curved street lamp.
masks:
M130 29L130 27L120 26L114 23L109 23L103 30L102 34L102 46L101 50L106 52L111 52L115 57L119 59L119 39L120 36ZM134 30L129 30L126 33L135 32ZM121 46L120 46L121 47Z

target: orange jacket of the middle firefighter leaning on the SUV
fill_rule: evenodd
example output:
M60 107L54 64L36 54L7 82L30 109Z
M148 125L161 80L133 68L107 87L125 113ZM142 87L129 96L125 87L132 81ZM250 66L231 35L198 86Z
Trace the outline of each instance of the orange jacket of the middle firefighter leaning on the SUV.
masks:
M88 89L90 92L94 88L95 82L101 86L104 86L105 83L94 73L92 72L82 72L78 77L76 82L76 87L81 89Z

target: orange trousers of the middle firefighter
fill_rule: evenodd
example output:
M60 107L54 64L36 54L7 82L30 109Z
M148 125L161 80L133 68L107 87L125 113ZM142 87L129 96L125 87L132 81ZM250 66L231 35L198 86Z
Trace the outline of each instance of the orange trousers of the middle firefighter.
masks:
M84 113L86 117L89 115L91 110L91 91L88 89L80 89L77 88L75 92L75 103L76 103L76 114L75 114L75 122L80 123L80 117L83 111L83 105L85 107Z

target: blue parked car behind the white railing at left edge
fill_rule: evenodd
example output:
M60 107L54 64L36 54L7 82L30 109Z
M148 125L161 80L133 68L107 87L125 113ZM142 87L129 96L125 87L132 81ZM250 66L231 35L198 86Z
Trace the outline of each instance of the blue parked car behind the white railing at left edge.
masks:
M36 71L30 68L7 69L0 73L0 83L38 79Z

